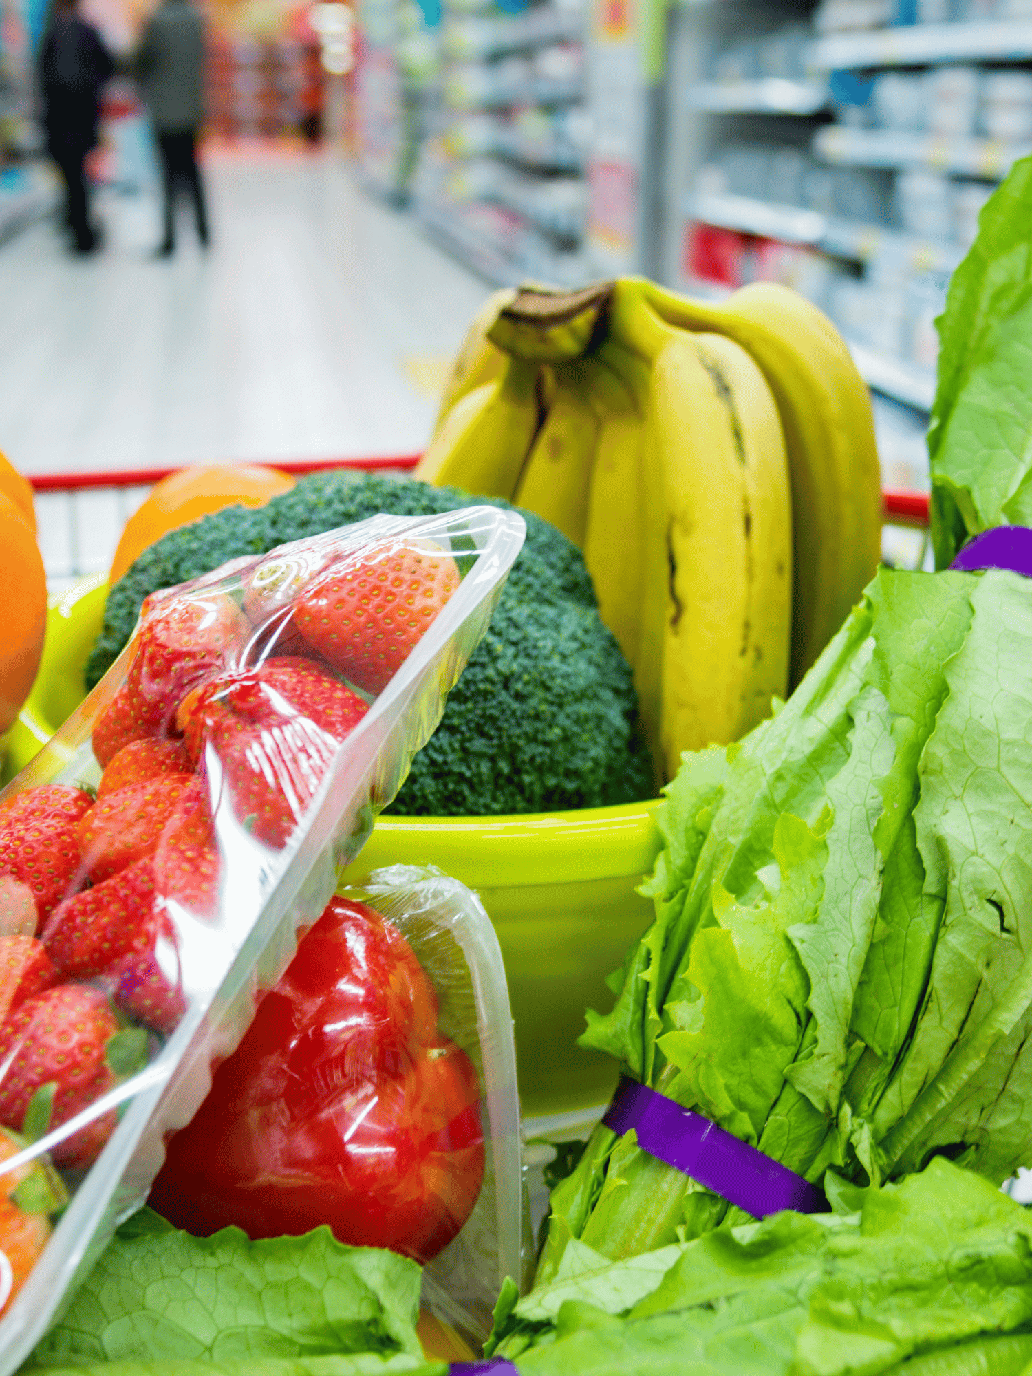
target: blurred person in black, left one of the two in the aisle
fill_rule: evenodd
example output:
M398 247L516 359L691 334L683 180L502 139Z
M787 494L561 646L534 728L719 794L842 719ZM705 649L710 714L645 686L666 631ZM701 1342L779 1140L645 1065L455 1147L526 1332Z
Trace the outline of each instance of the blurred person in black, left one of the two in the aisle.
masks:
M80 19L78 0L58 0L40 48L47 149L67 187L67 223L76 252L89 253L98 235L89 224L84 162L96 147L100 88L114 63L96 29Z

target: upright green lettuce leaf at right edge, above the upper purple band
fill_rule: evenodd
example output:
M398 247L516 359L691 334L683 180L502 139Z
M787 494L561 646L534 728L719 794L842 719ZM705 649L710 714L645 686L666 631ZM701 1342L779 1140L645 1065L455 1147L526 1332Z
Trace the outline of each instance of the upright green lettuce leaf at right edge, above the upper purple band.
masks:
M927 444L932 538L945 568L969 535L1032 524L1032 158L982 209L937 323Z

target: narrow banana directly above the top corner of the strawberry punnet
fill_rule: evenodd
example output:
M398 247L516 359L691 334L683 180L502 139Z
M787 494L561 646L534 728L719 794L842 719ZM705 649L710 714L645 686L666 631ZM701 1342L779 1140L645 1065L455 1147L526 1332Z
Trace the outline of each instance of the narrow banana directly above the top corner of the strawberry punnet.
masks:
M592 405L590 359L556 363L555 395L527 457L513 501L557 526L575 545L583 545L588 490L599 417Z

